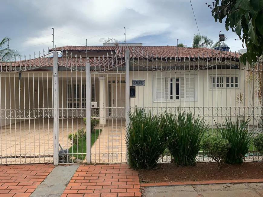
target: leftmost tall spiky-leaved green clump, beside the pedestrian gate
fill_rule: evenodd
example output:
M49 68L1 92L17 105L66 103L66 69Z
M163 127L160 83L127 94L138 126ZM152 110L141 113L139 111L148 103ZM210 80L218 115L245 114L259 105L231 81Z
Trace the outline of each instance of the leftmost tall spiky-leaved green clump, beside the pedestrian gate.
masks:
M129 165L135 169L154 167L167 148L161 119L137 108L129 117L125 139Z

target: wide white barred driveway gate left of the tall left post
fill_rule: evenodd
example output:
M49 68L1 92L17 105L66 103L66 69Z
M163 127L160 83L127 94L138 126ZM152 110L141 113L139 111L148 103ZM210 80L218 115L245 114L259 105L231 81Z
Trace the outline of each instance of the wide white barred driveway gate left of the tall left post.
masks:
M53 162L52 60L0 61L0 164Z

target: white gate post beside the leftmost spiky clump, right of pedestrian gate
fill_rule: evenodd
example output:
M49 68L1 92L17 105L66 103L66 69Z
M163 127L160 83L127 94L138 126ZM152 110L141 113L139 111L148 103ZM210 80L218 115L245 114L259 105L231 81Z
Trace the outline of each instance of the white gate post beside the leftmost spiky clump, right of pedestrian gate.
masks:
M126 136L127 128L130 124L130 52L125 50L125 112L126 112ZM126 163L128 164L127 147L126 147Z

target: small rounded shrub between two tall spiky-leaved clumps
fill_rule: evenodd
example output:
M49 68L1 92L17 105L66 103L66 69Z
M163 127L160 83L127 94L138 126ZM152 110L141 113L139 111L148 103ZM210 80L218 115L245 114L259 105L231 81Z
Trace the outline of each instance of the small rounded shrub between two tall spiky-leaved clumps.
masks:
M215 160L219 169L225 162L229 148L231 148L229 141L217 136L206 138L202 145L204 154Z

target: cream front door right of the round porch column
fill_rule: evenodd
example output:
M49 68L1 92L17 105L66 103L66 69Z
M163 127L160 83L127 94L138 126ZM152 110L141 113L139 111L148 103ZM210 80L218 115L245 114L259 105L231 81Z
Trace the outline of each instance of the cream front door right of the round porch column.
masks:
M125 117L125 82L112 84L112 117Z

